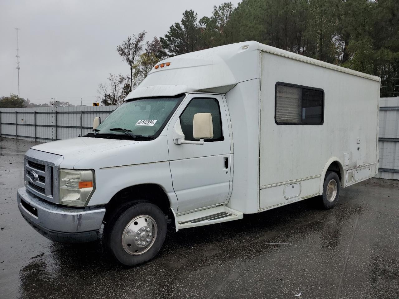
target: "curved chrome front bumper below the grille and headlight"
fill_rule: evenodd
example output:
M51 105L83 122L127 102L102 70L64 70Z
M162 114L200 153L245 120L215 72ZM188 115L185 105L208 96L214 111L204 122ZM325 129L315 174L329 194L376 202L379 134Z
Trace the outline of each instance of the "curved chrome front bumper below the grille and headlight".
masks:
M25 187L17 192L18 208L25 220L46 238L63 243L97 239L105 208L68 208L49 203Z

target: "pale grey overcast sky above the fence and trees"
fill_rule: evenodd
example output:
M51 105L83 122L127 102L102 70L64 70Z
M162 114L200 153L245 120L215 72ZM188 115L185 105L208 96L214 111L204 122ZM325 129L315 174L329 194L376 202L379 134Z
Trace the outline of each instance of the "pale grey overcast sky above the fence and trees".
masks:
M16 30L20 49L20 96L46 103L55 97L91 105L108 74L126 75L116 47L146 30L164 36L186 9L211 16L226 0L1 0L0 96L18 94ZM236 6L239 1L232 1Z

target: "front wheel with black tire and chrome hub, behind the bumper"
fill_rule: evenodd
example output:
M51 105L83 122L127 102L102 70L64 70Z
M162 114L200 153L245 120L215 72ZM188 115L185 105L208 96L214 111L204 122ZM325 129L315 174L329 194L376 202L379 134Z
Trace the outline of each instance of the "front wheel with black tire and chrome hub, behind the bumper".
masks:
M107 225L104 245L125 266L135 266L154 258L166 237L166 217L152 203L137 203Z

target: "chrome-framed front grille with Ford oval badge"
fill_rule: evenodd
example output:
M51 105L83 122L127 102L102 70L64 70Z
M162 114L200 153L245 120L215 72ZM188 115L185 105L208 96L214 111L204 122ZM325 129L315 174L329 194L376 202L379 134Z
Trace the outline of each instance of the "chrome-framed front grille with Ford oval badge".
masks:
M36 196L58 203L58 173L62 156L30 149L25 154L26 189Z

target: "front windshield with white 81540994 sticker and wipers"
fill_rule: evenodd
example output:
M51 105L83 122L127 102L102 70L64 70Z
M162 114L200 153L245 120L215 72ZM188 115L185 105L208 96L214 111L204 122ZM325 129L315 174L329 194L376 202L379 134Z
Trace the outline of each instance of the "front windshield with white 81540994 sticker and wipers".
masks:
M112 112L90 137L144 139L156 137L184 95L128 100ZM89 136L88 136L89 137Z

